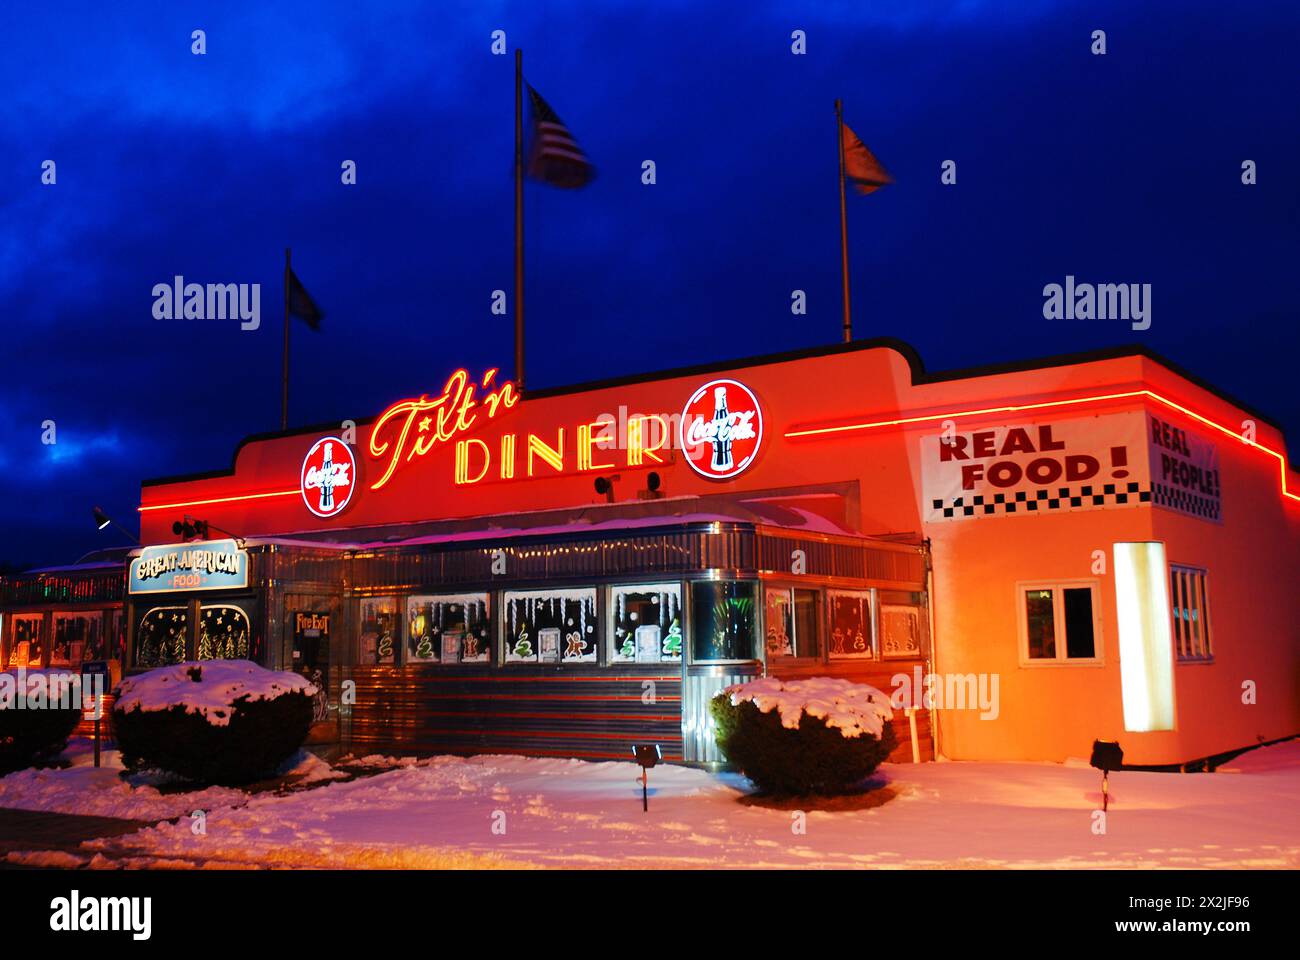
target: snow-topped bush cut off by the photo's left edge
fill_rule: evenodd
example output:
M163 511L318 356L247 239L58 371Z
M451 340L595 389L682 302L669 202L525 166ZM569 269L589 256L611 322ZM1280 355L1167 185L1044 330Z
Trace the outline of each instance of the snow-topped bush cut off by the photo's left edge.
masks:
M60 676L42 670L0 675L0 775L56 757L68 745L82 700L81 691L65 688ZM39 688L35 696L34 688Z

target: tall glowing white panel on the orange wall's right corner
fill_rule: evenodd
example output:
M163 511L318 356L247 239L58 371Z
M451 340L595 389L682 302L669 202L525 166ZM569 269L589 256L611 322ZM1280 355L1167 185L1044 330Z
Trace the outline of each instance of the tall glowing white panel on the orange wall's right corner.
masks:
M1174 644L1165 545L1115 544L1124 730L1174 728Z

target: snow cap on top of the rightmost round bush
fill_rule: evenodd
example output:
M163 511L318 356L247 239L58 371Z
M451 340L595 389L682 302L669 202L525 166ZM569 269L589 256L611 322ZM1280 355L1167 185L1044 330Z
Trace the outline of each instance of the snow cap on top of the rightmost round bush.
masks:
M750 700L762 713L771 713L775 708L781 715L781 726L789 730L798 728L800 717L806 713L826 721L841 736L853 739L867 734L879 740L885 721L893 719L888 695L870 684L833 676L810 676L806 680L764 676L737 683L723 692L731 697L732 706Z

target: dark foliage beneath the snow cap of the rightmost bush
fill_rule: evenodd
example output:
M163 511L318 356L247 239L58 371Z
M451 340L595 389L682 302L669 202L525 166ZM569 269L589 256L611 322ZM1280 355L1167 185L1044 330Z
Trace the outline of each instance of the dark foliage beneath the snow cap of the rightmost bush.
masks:
M898 745L888 722L880 739L870 734L844 736L807 713L800 717L798 727L789 728L776 709L763 713L753 700L733 704L727 692L712 699L710 710L727 760L768 793L844 793L870 777Z

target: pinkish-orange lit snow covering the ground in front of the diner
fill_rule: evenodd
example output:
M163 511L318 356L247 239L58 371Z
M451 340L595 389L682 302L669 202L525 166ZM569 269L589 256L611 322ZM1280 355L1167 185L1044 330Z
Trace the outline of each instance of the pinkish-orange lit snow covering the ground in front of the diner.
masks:
M1105 835L1100 775L1052 764L885 765L868 809L738 803L734 774L506 756L438 757L289 796L92 840L98 865L199 866L1300 866L1300 743L1235 774L1117 773ZM3 784L4 782L0 782ZM200 804L187 804L200 805Z

